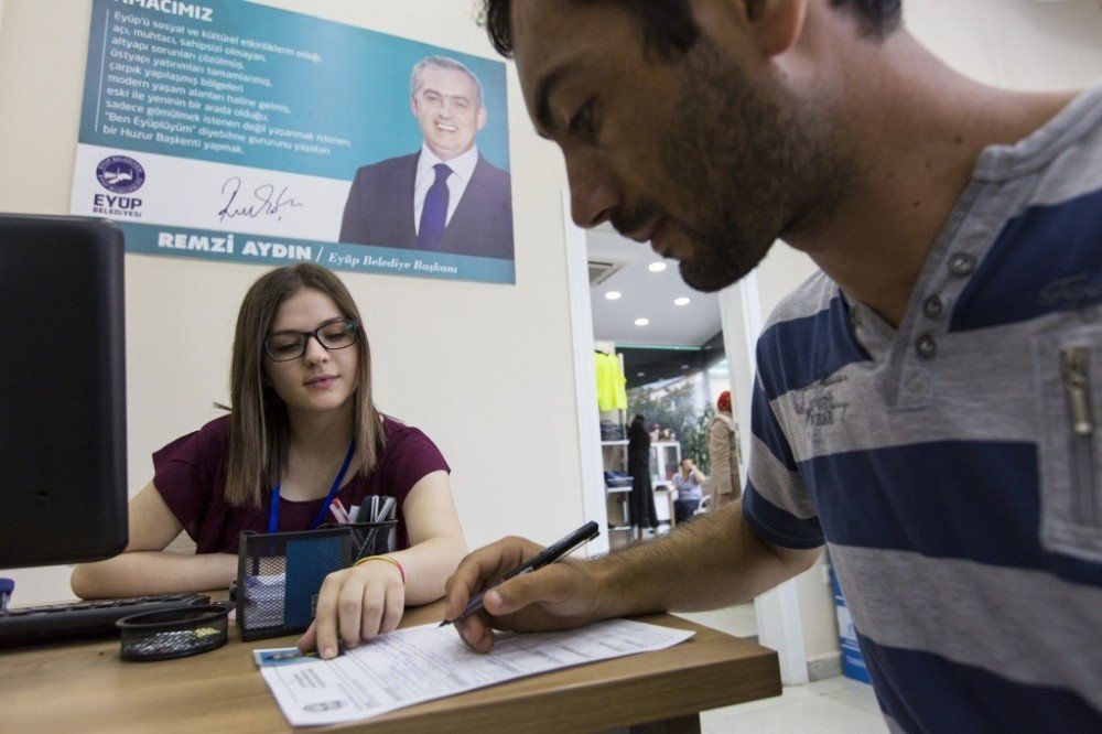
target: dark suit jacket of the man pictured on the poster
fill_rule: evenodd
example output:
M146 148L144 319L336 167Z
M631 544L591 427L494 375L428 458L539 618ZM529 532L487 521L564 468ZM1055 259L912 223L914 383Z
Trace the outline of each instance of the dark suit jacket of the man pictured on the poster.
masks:
M341 241L417 249L413 183L420 153L356 171L341 223ZM440 251L512 259L509 174L482 155L440 240Z

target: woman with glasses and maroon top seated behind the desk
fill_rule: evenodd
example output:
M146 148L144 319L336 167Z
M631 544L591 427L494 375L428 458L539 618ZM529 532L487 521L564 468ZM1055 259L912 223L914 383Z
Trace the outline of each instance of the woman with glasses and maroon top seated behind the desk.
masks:
M242 530L310 530L370 495L398 503L398 551L329 574L303 649L336 655L440 598L466 552L449 466L415 428L378 412L371 357L352 295L311 263L261 277L237 317L229 415L153 454L130 501L130 543L77 565L80 597L225 589ZM334 478L335 477L335 478ZM194 555L164 552L184 530ZM378 561L378 559L375 559Z

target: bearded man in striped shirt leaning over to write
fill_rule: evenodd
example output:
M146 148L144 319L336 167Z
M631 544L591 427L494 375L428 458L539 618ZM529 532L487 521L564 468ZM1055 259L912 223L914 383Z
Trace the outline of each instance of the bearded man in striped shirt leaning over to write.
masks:
M580 225L701 290L778 237L822 273L759 338L743 501L496 586L476 649L746 601L825 543L892 728L1102 730L1102 86L979 85L899 10L487 0ZM472 553L449 618L536 549Z

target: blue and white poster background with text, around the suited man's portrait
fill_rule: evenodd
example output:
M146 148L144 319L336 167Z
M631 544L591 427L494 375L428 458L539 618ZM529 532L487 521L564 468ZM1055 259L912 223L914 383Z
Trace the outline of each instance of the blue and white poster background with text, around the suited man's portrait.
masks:
M94 0L71 209L132 252L512 283L511 258L336 241L356 170L421 148L431 55L480 80L476 144L508 173L501 62L240 0Z

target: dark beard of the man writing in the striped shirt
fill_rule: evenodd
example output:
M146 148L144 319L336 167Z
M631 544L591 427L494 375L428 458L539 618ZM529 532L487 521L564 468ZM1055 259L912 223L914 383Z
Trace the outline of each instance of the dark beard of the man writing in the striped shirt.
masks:
M798 100L780 79L755 84L706 36L679 63L677 125L659 151L668 204L641 201L613 224L631 231L661 217L668 234L691 240L684 281L717 291L757 267L779 237L836 206L851 170L843 145L828 143L823 99Z

